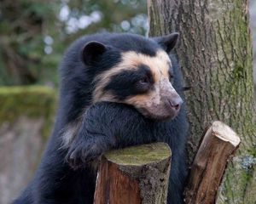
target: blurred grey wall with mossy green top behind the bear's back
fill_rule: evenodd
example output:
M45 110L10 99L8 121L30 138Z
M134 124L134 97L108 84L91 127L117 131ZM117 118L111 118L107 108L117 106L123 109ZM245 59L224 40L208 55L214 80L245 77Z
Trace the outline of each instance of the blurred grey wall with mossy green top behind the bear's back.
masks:
M55 91L40 86L0 88L0 204L32 178L53 124Z

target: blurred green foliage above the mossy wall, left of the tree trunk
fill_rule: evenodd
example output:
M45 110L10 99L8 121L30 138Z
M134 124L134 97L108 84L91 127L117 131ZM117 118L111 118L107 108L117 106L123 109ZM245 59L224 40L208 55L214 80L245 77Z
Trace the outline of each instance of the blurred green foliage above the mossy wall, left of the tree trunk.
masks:
M2 0L0 85L58 84L68 44L98 31L146 34L146 0Z

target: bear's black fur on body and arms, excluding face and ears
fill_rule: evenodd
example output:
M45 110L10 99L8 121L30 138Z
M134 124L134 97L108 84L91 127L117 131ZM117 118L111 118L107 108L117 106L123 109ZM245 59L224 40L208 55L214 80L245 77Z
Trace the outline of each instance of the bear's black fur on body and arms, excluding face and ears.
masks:
M90 41L105 44L107 52L95 60L96 65L85 66L81 52ZM172 149L168 203L183 203L188 128L184 105L175 119L165 122L147 119L130 105L110 102L91 105L93 79L117 64L122 51L154 56L158 49L160 45L154 40L130 34L97 34L73 43L61 63L61 99L54 131L35 178L15 204L93 203L96 172L91 161L105 150L155 141L164 141ZM182 96L182 75L173 57L172 66L173 86ZM67 126L79 120L82 123L73 142L62 147Z

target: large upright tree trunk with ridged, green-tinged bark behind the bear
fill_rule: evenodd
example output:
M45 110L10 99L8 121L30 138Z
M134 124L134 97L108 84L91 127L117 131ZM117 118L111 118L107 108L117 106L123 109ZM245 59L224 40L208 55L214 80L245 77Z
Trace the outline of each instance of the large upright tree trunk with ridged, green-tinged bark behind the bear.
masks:
M149 36L181 34L175 53L187 86L190 159L207 124L220 120L241 136L218 203L255 203L252 43L247 0L148 0ZM254 193L253 193L254 192Z

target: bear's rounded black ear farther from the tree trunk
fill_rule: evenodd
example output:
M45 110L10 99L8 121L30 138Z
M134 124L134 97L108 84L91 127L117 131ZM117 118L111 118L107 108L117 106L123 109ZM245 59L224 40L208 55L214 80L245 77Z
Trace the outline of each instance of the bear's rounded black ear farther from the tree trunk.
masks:
M101 42L90 41L85 44L82 50L84 65L93 65L106 50L107 47Z

